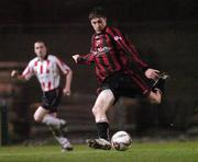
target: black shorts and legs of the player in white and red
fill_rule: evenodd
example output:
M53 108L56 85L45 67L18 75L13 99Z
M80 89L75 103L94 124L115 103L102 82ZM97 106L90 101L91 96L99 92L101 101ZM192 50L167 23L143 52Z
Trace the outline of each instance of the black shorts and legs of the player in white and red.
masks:
M35 112L34 118L47 125L64 151L73 150L70 142L66 138L67 123L62 118L57 118L57 106L61 103L61 89L44 92L42 106Z

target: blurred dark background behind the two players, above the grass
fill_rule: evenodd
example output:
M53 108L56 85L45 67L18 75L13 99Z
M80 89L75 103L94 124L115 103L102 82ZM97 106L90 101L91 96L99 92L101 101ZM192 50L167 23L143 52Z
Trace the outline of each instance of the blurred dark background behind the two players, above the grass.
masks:
M161 106L122 99L109 113L112 131L197 135L197 0L7 0L0 1L0 100L7 103L12 141L48 134L32 119L41 97L37 81L22 84L10 79L12 69L22 70L34 57L37 39L74 71L73 95L64 99L59 108L70 124L70 135L95 135L94 70L76 66L72 55L89 51L94 31L88 12L98 5L106 9L109 24L129 36L145 61L170 76Z

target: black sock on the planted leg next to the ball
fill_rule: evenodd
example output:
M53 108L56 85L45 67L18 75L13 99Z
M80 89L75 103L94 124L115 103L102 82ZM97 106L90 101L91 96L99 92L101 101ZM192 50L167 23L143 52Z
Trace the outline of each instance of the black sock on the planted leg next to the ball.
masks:
M109 140L109 124L106 121L97 123L97 131L99 138Z

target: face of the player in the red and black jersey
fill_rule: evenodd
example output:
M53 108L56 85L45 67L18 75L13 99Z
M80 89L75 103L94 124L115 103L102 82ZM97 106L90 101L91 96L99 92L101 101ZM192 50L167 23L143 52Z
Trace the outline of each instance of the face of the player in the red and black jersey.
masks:
M97 34L100 34L105 27L107 26L107 19L106 18L95 18L91 19L91 25Z

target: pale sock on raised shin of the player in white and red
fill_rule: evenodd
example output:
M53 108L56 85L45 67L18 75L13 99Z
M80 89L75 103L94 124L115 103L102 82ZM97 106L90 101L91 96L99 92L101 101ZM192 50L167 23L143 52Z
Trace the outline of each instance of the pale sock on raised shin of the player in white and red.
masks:
M52 127L54 127L56 129L61 128L61 119L56 118L56 117L54 117L52 115L45 115L42 123L46 124L47 126L52 126Z

